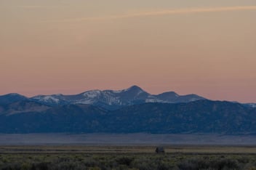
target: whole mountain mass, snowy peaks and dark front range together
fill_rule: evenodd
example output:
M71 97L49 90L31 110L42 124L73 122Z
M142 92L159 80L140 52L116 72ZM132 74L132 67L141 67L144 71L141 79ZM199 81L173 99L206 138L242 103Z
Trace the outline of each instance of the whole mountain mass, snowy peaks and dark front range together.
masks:
M256 134L256 108L138 86L76 95L0 96L0 133Z

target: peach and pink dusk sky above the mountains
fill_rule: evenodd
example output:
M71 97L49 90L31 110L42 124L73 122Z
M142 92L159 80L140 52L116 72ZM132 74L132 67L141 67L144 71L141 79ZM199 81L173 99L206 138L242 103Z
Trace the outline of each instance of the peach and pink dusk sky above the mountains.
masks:
M0 0L0 95L137 85L256 102L255 0Z

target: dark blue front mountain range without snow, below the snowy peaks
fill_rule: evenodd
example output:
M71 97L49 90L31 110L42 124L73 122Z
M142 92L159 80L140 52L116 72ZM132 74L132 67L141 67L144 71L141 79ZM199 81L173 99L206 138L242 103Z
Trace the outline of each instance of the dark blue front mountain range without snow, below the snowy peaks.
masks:
M234 102L143 103L119 110L22 101L0 107L0 133L256 134L256 108Z

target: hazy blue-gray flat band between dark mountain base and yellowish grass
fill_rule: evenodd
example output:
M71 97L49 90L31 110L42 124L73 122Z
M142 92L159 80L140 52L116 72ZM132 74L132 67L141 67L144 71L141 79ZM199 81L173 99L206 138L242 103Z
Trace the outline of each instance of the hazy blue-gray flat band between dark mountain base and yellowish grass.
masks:
M256 145L256 135L0 134L0 145Z

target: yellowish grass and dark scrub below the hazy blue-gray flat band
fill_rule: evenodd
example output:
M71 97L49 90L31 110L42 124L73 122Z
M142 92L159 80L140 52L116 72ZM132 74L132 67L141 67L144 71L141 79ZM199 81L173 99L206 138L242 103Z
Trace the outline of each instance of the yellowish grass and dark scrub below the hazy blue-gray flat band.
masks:
M0 146L0 169L256 169L256 147Z

